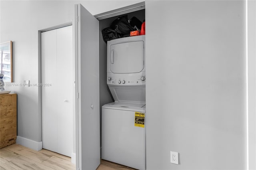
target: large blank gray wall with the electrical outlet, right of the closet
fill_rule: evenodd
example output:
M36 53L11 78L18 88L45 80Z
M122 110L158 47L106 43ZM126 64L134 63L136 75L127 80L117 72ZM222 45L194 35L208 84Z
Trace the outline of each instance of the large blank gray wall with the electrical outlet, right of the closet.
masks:
M245 12L239 0L146 1L148 170L246 169Z

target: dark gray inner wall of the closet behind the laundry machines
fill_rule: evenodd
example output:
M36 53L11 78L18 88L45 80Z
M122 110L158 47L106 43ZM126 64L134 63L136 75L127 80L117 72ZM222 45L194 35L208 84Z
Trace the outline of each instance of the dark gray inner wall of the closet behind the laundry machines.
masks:
M138 18L141 22L145 20L145 9L144 10L138 10L135 12L130 12L128 14L122 14L128 15L128 19L131 19L133 16ZM104 20L100 20L100 125L101 125L101 115L102 115L102 106L111 103L114 101L106 82L107 79L107 43L104 42L102 38L102 30L106 27L110 27L110 24L117 19L119 16L106 18ZM140 28L139 28L140 29ZM100 128L100 136L101 136L101 128ZM101 140L100 140L100 146L101 146Z

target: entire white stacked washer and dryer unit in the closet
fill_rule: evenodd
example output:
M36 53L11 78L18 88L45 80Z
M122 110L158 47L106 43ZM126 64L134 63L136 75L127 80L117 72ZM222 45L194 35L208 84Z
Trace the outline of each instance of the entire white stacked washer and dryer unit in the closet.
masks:
M146 169L145 36L107 43L107 84L113 103L102 106L102 159Z

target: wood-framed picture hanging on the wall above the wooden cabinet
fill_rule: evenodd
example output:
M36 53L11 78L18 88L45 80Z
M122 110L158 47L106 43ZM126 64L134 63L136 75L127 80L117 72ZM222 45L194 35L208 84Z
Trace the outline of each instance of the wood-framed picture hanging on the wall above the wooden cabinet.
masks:
M4 74L4 83L12 80L12 41L0 44L0 73Z

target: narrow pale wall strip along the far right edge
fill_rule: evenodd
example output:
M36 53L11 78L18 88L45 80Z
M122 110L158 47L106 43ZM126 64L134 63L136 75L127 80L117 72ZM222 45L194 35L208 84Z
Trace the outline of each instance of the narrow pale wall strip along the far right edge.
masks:
M256 1L246 0L246 52L248 57L247 166L256 169Z

